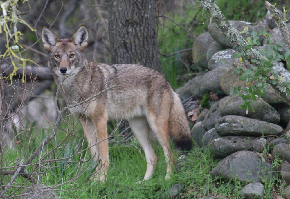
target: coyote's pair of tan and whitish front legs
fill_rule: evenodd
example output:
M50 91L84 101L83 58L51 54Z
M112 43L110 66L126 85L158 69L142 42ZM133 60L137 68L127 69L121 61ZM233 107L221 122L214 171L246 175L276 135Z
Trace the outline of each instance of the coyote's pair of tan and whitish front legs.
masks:
M84 117L80 120L87 138L91 155L99 165L96 168L97 180L104 181L109 167L109 150L107 139L107 116Z

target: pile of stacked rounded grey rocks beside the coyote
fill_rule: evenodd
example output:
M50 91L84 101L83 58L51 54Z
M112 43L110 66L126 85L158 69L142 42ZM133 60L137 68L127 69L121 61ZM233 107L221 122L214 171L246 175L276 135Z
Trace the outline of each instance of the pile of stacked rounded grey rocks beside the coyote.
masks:
M272 28L269 34L274 37L271 40L283 42L282 34L272 20L268 17L263 23L256 24L244 21L229 22L240 32L247 26L250 34L253 31L259 32L264 29L269 31ZM290 24L288 27L290 31ZM245 33L243 35L248 36ZM257 50L267 48L264 37L260 36L259 40L262 46L255 48ZM212 169L210 173L212 176L254 183L271 178L273 174L271 162L261 158L261 153L267 150L267 154L284 159L281 177L290 183L290 146L287 135L283 134L283 128L290 120L290 114L287 112L289 108L271 86L267 87L265 96L252 101L253 110L246 111L240 108L243 99L230 95L231 89L248 85L239 80L239 75L233 71L237 66L249 67L249 63L241 63L238 58L234 58L235 50L231 49L232 47L230 41L214 23L208 26L208 32L200 34L194 41L194 63L206 72L188 81L176 92L181 99L192 95L202 99L208 92L215 92L223 97L215 101L202 117L204 119L193 126L192 137L197 146L208 147L214 157L222 159ZM284 48L280 53L284 55L286 50L288 49ZM283 81L290 81L290 71L284 68L282 62L275 62L273 70L279 76L282 75ZM200 108L201 112L203 107ZM251 184L244 190L244 194L247 194L249 187L255 186L263 185ZM290 198L290 187L285 187L284 191L284 197Z

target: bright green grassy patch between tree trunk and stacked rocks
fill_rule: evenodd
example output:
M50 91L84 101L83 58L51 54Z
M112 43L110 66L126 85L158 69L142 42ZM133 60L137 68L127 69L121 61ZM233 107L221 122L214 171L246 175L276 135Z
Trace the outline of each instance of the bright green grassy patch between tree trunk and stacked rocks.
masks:
M203 9L195 8L196 6L198 5L187 3L179 8L178 12L166 13L167 17L159 19L158 44L161 53L161 71L173 89L181 87L200 70L192 64L191 49L194 38L206 30L208 24L201 23L207 21L209 15L201 16ZM188 50L182 51L184 49ZM178 51L180 52L176 53Z

